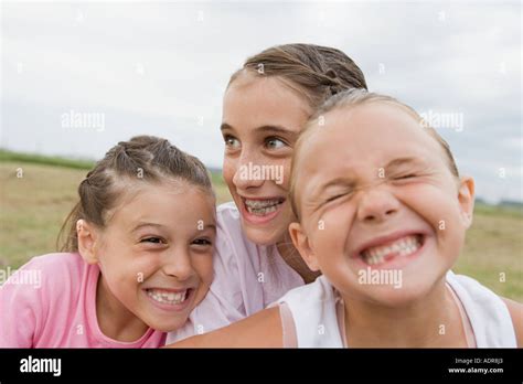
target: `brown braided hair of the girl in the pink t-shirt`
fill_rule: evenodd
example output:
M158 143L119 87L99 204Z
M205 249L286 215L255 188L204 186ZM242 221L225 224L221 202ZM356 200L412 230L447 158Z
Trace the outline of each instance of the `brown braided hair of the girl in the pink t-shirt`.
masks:
M56 239L61 252L77 252L76 222L79 218L103 228L107 212L129 189L129 182L183 180L214 195L203 163L168 140L137 136L109 149L104 159L79 183L79 201L65 218ZM62 244L62 245L60 245Z

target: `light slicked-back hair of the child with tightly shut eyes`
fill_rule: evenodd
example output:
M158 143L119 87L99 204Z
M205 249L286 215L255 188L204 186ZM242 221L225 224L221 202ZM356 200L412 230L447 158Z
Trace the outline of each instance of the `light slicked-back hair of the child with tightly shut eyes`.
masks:
M445 157L447 158L447 163L450 169L450 172L452 173L453 177L459 178L458 167L456 166L456 161L453 159L452 152L450 151L449 145L447 143L447 141L445 141L445 139L441 136L439 136L436 129L430 127L427 124L427 121L425 121L418 115L418 113L416 113L416 110L414 110L408 105L391 96L367 92L365 89L344 90L337 94L335 96L332 96L320 108L318 108L314 115L310 117L303 130L300 132L300 136L295 145L295 150L292 152L291 169L290 169L289 199L290 199L290 206L292 209L292 212L295 213L296 217L298 217L298 220L299 220L299 210L296 202L295 174L296 174L296 167L298 163L298 156L299 156L299 152L301 152L301 147L303 142L307 140L308 137L310 137L313 132L316 132L319 128L321 128L322 125L320 124L320 119L322 117L324 118L325 114L339 108L352 109L357 106L370 104L370 103L386 103L389 105L394 105L396 107L402 108L404 111L410 115L416 121L419 122L420 128L423 127L424 129L426 129L427 134L430 135L440 145L440 147L444 150Z

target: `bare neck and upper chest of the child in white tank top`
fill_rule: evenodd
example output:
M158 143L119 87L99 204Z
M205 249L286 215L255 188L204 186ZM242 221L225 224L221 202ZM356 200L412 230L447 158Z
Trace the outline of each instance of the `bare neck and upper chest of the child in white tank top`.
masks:
M445 278L423 299L401 308L343 297L350 346L465 348L461 316Z

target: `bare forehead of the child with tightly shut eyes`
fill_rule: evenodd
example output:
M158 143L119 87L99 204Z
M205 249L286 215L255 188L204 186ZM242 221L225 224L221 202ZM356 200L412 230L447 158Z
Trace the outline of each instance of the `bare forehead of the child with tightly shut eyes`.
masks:
M299 153L295 153L296 168L303 168L309 175L327 175L332 169L366 172L395 158L444 157L437 141L407 113L391 106L376 107L381 106L325 114L324 125L312 127L303 137Z

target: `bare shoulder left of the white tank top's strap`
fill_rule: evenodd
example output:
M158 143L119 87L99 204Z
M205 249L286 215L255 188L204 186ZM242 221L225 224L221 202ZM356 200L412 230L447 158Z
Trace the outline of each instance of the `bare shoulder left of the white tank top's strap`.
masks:
M279 308L268 308L218 330L184 339L168 348L282 348Z

